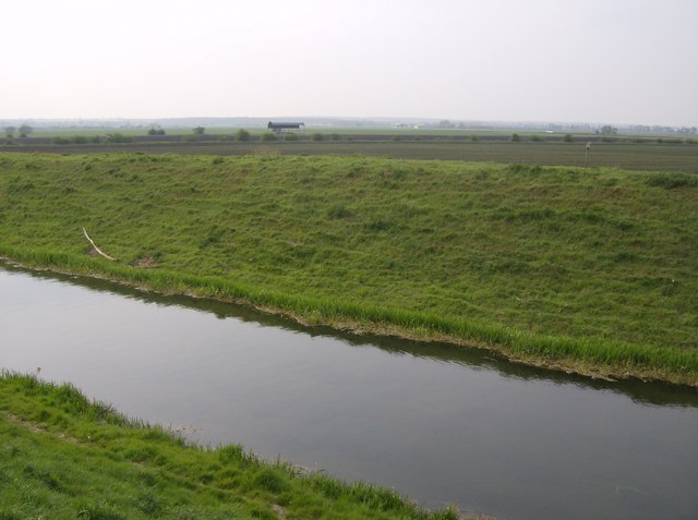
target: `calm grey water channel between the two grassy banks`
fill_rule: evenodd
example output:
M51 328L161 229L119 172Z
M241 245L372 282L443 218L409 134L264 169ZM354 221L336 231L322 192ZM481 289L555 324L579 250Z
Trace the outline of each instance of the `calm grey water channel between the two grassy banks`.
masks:
M698 392L0 265L0 366L500 519L698 518Z

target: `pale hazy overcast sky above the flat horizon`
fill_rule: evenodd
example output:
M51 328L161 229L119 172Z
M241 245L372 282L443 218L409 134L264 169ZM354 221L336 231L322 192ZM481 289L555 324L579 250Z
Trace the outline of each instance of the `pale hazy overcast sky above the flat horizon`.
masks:
M0 119L698 125L696 0L32 0Z

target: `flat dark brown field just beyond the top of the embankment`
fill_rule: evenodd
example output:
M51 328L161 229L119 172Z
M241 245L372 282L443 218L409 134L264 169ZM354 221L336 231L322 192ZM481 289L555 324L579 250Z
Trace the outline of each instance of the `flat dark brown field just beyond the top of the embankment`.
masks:
M405 136L399 135L345 135L322 134L323 141L313 141L306 132L298 141L263 141L252 134L250 141L224 141L226 135L206 135L198 141L184 141L184 137L168 135L167 142L134 137L131 143L100 144L51 144L50 140L26 140L22 144L0 145L0 150L24 153L146 153L146 154L205 154L221 156L282 155L282 156L369 156L398 159L443 159L485 162L504 162L538 166L585 165L585 138L566 143L563 141L534 142L522 137L521 142L512 142L503 136L488 138L466 138L466 136L445 137L438 135ZM639 141L639 140L638 140ZM592 140L588 159L589 167L619 168L643 171L683 171L698 173L698 144L690 142L658 143L645 140L633 142L618 140L603 142Z

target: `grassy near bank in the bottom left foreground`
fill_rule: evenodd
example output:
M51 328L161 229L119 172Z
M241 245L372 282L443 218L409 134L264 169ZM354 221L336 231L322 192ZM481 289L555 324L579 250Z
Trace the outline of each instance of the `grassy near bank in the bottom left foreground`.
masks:
M0 375L0 518L456 519L396 492L203 449L71 386Z

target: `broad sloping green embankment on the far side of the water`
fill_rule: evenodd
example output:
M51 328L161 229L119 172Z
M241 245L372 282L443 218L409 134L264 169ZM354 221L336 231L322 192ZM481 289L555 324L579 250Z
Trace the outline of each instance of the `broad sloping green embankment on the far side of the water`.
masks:
M0 155L0 254L25 264L693 385L697 216L685 173Z

